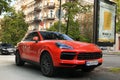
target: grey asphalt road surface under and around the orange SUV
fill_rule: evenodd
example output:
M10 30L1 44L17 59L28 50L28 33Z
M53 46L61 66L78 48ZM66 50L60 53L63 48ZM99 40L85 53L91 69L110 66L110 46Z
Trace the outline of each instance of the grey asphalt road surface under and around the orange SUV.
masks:
M76 71L70 74L61 71L55 77L45 77L36 66L16 66L14 55L0 55L0 80L120 80L120 73L111 73L105 68L118 67L119 60L120 56L105 55L103 65L91 73Z

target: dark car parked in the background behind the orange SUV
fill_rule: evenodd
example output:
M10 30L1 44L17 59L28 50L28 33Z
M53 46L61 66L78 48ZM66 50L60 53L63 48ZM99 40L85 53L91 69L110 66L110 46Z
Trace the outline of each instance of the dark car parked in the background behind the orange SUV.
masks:
M15 47L8 43L1 43L0 44L0 53L1 54L14 54L16 51Z

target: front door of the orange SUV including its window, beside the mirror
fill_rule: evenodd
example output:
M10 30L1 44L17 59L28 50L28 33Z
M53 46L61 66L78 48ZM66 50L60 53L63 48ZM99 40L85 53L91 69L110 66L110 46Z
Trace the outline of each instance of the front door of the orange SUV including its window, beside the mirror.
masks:
M28 37L25 39L25 47L26 47L26 59L35 61L36 62L36 57L38 56L37 52L39 49L38 43L36 43L33 40L33 37L38 37L38 40L40 40L39 34L37 32L32 32L28 35Z

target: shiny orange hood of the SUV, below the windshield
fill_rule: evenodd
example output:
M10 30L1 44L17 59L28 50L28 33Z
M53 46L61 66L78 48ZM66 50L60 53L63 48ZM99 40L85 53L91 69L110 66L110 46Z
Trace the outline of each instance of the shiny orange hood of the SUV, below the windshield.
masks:
M66 45L69 45L71 47L73 47L73 49L76 49L76 50L81 50L81 51L101 51L99 47L97 47L96 45L94 44L91 44L91 43L86 43L86 42L78 42L78 41L58 41L60 43L63 43L63 44L66 44Z

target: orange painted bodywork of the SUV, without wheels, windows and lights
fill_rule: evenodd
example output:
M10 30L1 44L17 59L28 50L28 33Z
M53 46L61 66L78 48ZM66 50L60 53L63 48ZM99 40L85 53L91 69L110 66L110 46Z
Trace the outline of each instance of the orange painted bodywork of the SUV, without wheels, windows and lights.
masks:
M40 41L37 43L35 41L21 41L19 43L18 50L23 59L39 63L41 53L48 51L55 67L75 67L77 65L85 65L86 61L98 61L98 64L103 61L101 57L102 51L94 44L69 40L43 40L39 32L38 35ZM56 46L57 42L72 46L73 49L60 49ZM61 59L60 56L62 52L75 53L75 56L73 59ZM79 54L89 54L88 56L91 57L91 59L86 58L80 60L78 59ZM95 58L99 56L99 54L100 57Z

